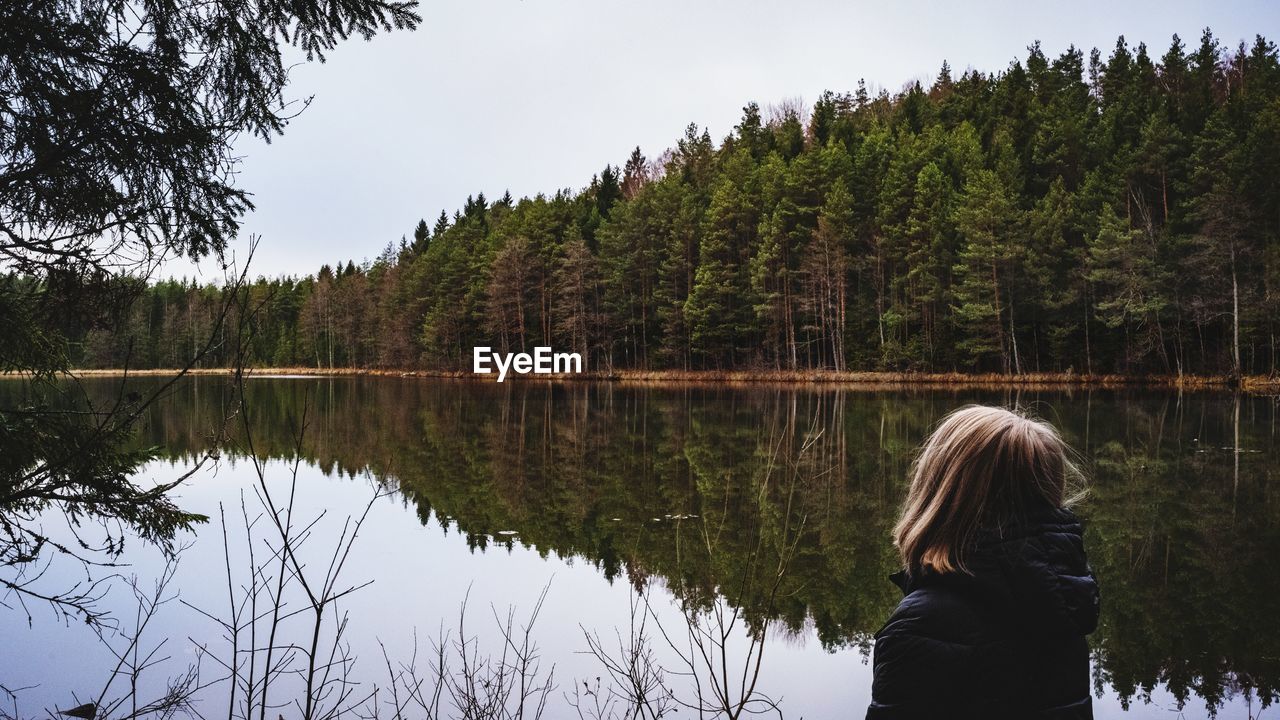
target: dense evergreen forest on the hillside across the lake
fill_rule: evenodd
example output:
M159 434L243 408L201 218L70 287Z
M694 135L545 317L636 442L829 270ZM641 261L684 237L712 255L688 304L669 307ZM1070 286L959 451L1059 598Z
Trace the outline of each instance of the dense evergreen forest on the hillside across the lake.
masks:
M1277 168L1263 37L1036 44L997 73L749 104L718 143L689 126L580 191L480 193L372 261L259 279L247 360L1270 374ZM137 290L118 327L73 333L78 364L179 366L223 292Z

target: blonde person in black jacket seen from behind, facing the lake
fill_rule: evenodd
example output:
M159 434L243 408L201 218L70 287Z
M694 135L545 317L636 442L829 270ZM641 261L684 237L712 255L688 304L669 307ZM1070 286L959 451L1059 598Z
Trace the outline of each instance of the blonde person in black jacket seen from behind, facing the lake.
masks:
M1078 474L1052 425L1001 407L942 420L893 529L905 597L876 634L868 720L1092 717L1098 587Z

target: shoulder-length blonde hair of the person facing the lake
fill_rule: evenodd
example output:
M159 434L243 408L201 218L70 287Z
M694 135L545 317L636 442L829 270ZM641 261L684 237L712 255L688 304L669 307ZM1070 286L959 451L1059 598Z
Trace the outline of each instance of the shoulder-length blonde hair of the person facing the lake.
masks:
M968 405L942 419L911 465L893 541L911 573L963 571L979 528L1036 507L1078 501L1080 473L1053 425L1019 411Z

